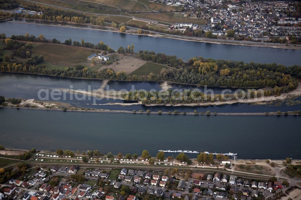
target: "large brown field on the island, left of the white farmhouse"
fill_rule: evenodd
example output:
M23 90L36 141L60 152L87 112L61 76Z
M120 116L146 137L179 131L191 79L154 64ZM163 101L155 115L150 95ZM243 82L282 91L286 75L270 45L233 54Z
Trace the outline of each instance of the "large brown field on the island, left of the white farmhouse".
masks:
M32 49L33 53L44 56L44 61L55 65L75 66L82 64L87 57L100 50L83 47L41 43Z

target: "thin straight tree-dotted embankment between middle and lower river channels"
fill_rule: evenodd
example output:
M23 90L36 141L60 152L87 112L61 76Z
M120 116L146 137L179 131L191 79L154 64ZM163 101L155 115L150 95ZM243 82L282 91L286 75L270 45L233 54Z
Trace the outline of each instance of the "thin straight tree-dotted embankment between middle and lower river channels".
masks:
M157 115L161 115L161 114L167 114L167 115L206 115L206 116L210 116L210 115L274 115L274 116L280 116L280 115L293 115L293 116L301 116L301 114L294 114L293 112L287 112L287 114L285 114L284 112L282 112L281 114L277 114L276 112L270 112L270 113L210 113L210 114L206 114L206 113L169 113L169 112L162 112L162 113L157 113L157 112L133 112L133 111L119 111L119 110L104 110L104 109L99 109L99 110L63 110L62 108L28 108L28 107L15 107L15 106L0 106L0 108L15 108L15 109L32 109L32 110L50 110L50 111L63 111L63 112L98 112L98 113L128 113L128 114L157 114ZM80 108L79 108L80 109Z

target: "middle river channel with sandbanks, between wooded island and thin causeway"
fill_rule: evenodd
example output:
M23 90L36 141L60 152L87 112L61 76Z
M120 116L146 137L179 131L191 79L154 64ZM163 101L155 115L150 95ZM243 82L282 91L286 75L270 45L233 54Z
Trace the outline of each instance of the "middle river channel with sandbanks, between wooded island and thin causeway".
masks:
M38 98L38 92L40 89L48 89L49 93L54 91L54 89L85 89L88 91L88 87L91 87L91 90L98 89L101 87L101 80L91 80L91 79L77 79L77 78L65 78L65 77L54 77L54 76L44 76L44 75L33 75L33 74L14 74L14 73L0 73L0 95L4 95L7 98L24 98L24 99L36 99ZM159 82L126 82L126 81L109 81L107 84L107 89L115 89L119 91L121 89L126 89L130 91L132 87L135 89L156 89L160 90ZM178 85L172 84L171 89L194 89L195 86L189 85ZM203 87L199 87L202 92L204 91ZM212 89L214 94L220 94L223 89L233 88L219 88L219 87L208 87ZM45 93L41 93L42 97L45 97ZM50 95L49 95L50 96ZM61 96L62 97L62 96ZM79 95L82 97L82 95ZM51 99L49 99L51 101ZM54 101L54 100L52 100ZM90 100L88 96L84 99L76 100L75 95L68 93L66 95L66 100L58 99L56 101L70 103L73 106L80 108L95 108L95 109L109 109L109 110L126 110L126 111L146 111L147 109L152 112L161 111L174 111L179 112L193 112L194 109L197 112L206 112L210 110L211 112L218 113L257 113L257 112L277 112L280 111L296 111L301 110L301 97L297 97L294 100L289 101L279 101L272 104L266 105L254 105L254 104L233 104L233 105L220 105L220 106L151 106L147 107L144 105L130 105L129 102L122 100L113 100L113 99L102 99L96 100L93 102L93 98ZM107 105L112 103L119 103L120 105Z

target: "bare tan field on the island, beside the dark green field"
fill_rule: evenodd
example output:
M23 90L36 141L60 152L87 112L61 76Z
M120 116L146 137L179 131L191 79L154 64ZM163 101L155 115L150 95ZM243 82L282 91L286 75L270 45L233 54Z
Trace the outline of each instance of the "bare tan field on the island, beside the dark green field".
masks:
M127 74L130 74L131 72L140 68L145 63L146 63L146 61L144 61L144 60L132 58L129 56L122 56L120 58L120 60L109 65L109 67L112 68L115 72L124 71Z

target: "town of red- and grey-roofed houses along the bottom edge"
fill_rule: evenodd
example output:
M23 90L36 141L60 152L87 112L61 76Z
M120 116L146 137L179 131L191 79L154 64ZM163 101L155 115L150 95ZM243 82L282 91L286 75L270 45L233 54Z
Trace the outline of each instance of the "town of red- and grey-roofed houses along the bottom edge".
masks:
M55 155L51 156L57 157ZM40 157L42 158L42 156ZM67 159L72 158L67 157ZM101 163L110 163L108 158L101 160L103 160ZM126 161L126 159L118 158L113 160L117 163L121 163L118 161ZM42 159L39 159L39 161L42 161ZM136 162L141 161L141 159L136 159ZM175 165L175 161L165 160L164 162ZM157 165L159 163L157 162ZM214 166L217 166L217 169L219 167L223 169L231 166L231 161L217 162L217 165ZM44 165L42 168L36 165L24 177L10 179L3 184L0 189L0 199L138 200L146 199L148 196L153 199L257 200L271 199L273 195L275 196L275 192L280 194L288 186L275 177L273 177L273 180L260 181L231 175L231 173L224 174L224 171L199 173L193 172L193 168L191 170L181 170L176 166L175 168L163 168L161 170L142 168L135 168L135 166L119 169L89 168L88 166L79 167L77 164L50 167ZM184 174L189 175L183 178Z

